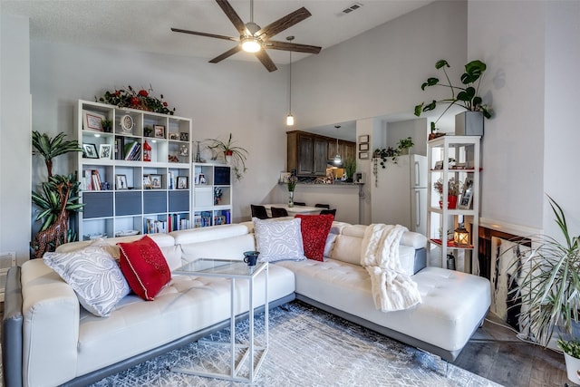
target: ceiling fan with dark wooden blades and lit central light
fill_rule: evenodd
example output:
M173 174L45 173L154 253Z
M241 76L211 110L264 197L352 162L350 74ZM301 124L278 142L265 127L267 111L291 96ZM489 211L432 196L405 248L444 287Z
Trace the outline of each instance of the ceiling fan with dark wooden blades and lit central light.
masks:
M239 38L218 34L199 33L196 31L183 30L180 28L171 28L171 31L183 34L194 34L200 36L208 36L212 38L225 39L238 44L227 52L222 53L209 61L209 63L218 63L227 59L234 53L240 50L248 53L255 53L257 59L264 64L268 72L274 72L277 68L265 49L294 51L296 53L320 53L322 47L307 44L294 44L289 42L277 42L270 40L275 34L280 34L287 28L302 22L312 14L308 12L304 6L293 13L285 15L276 20L274 23L266 25L262 28L254 23L254 0L250 0L250 22L244 24L242 19L237 15L234 8L227 2L227 0L216 0L222 11L227 15L227 18L234 24L239 33Z

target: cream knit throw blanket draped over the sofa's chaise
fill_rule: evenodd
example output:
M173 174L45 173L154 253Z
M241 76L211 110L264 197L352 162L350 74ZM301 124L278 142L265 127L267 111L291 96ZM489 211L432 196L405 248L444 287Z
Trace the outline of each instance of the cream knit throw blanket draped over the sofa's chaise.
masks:
M420 304L417 284L401 269L399 244L407 231L401 225L373 224L366 228L361 246L361 265L371 276L374 305L382 312Z

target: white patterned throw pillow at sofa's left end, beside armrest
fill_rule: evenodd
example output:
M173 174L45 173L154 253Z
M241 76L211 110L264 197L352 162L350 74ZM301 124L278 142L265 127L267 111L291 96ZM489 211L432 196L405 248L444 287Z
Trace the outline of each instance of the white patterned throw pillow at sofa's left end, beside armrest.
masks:
M131 292L117 262L102 247L46 253L43 260L73 287L81 305L97 316L111 314L121 298Z

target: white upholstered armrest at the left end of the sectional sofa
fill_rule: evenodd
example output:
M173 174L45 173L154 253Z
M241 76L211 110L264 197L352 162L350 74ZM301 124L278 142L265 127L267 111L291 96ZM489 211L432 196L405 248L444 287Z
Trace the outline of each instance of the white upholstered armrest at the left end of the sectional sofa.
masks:
M73 288L42 259L22 266L24 385L58 385L76 376L80 308Z

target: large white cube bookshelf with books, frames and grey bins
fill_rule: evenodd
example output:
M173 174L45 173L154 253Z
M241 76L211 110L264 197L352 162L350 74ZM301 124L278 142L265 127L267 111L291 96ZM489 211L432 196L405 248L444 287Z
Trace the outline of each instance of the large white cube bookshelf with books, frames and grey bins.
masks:
M190 119L88 101L76 117L80 240L193 227Z

